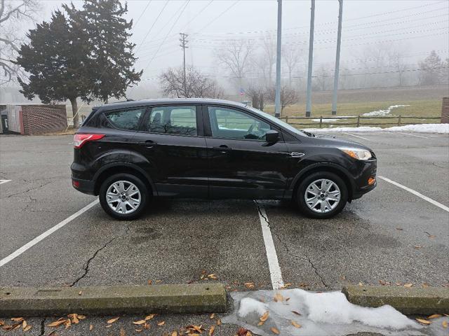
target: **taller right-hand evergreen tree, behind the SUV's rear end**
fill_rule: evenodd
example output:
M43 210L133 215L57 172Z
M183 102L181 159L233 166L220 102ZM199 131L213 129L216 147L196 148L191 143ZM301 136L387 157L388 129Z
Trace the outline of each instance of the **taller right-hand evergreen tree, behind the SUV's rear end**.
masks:
M133 68L135 44L128 41L133 20L123 18L127 5L123 7L119 0L85 0L83 10L77 11L73 4L64 8L88 33L93 96L103 102L126 96L126 88L142 76L142 71Z

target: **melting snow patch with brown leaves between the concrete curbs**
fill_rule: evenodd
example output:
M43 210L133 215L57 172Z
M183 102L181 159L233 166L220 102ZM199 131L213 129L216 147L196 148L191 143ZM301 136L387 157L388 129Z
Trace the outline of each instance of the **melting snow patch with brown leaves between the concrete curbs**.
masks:
M241 325L259 335L272 336L273 328L279 330L279 335L292 336L337 336L356 332L446 335L444 332L447 332L438 325L423 327L389 305L368 308L351 304L340 292L314 293L295 288L234 292L231 295L234 312L222 321ZM267 317L266 321L262 316Z

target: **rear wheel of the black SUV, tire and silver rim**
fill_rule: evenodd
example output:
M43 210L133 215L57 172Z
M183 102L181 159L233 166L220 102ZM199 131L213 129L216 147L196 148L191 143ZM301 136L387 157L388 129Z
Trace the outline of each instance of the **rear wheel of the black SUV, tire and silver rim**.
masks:
M121 173L114 174L103 181L98 197L101 207L109 216L129 221L138 218L145 211L149 192L145 183L137 176ZM117 199L116 202L115 199Z

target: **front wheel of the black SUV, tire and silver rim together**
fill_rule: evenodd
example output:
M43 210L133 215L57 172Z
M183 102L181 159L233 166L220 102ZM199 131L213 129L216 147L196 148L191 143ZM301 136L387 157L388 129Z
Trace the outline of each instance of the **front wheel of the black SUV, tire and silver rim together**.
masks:
M328 188L329 190L326 191ZM314 197L314 194L318 197ZM310 218L333 217L342 211L347 200L346 184L340 176L330 172L316 172L306 176L296 193L296 202L300 211Z

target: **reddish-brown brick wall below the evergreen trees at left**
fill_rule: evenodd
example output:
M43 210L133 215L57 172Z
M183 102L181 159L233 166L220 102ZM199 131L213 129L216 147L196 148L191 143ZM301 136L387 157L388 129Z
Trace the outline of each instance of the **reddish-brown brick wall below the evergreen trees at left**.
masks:
M22 105L23 134L59 132L67 128L64 104Z

